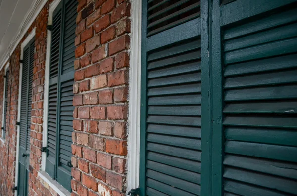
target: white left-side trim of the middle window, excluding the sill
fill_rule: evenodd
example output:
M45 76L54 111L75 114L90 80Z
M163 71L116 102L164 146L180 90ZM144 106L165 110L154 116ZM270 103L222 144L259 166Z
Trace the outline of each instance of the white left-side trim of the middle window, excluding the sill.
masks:
M48 25L52 24L52 15L55 8L59 5L61 0L53 1L49 6ZM43 115L43 135L42 146L46 147L48 142L48 110L49 110L49 66L50 66L50 47L51 47L51 31L47 31L47 53L45 66L45 83L44 83L44 115ZM41 170L46 170L47 153L43 152L41 157Z

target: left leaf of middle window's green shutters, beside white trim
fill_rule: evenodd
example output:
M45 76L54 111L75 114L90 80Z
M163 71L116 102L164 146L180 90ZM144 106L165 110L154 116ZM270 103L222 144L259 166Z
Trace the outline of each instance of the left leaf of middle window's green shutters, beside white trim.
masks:
M56 133L57 133L57 96L58 96L58 69L60 55L61 17L62 3L53 12L50 68L49 68L49 105L48 105L48 156L46 172L55 178L56 165Z

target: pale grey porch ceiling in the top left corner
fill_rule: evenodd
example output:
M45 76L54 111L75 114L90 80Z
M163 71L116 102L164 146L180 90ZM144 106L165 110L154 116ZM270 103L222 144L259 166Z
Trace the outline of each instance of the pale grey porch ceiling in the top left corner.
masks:
M0 68L26 28L28 14L36 0L0 0ZM28 13L28 14L27 14Z

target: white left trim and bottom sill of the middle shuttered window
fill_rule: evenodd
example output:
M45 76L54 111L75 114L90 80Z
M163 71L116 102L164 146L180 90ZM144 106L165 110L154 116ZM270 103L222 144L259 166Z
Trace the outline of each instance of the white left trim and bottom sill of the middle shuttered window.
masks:
M49 6L48 25L52 25L53 12L59 5L61 0L53 1ZM48 142L48 110L49 110L49 67L50 67L50 47L51 47L51 31L47 30L47 53L45 66L45 84L44 84L44 115L43 115L43 138L42 146L47 147ZM60 196L71 196L71 193L60 185L57 181L52 179L46 172L47 153L43 152L41 158L41 170L38 176L42 178L49 186Z

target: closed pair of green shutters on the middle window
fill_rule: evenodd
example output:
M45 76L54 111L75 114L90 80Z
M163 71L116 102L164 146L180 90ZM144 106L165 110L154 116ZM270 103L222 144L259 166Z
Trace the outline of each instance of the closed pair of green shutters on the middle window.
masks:
M71 191L70 165L74 110L72 99L77 5L76 0L62 0L54 11L49 76L46 171L69 191Z

